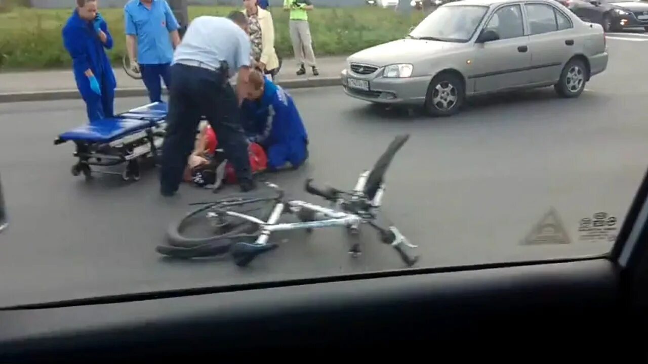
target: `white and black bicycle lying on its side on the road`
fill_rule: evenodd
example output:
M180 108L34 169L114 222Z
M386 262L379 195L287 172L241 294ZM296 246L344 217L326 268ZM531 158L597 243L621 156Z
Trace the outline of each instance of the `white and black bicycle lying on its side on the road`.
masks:
M418 256L409 256L404 247L414 248L416 245L410 244L395 226L380 226L376 223L382 217L380 207L385 191L383 177L394 155L409 137L396 137L373 168L360 174L352 191L332 187L317 188L312 185L312 179L308 179L305 184L306 191L329 201L332 205L330 208L305 201L286 200L283 190L268 183L275 192L273 196L257 198L241 194L202 203L202 207L170 225L170 245L160 245L156 250L176 258L202 258L230 253L238 266L246 266L257 255L278 246L270 242L270 236L275 231L306 229L310 232L323 227L345 227L349 233L356 234L360 225L367 224L376 229L382 242L390 244L399 253L407 266L413 266ZM261 207L246 210L246 207L251 205ZM252 210L261 212L252 216ZM181 230L185 222L200 214L204 214L211 221L216 234L205 238L183 236ZM299 222L279 223L283 214L294 214ZM359 244L354 243L349 253L360 253Z

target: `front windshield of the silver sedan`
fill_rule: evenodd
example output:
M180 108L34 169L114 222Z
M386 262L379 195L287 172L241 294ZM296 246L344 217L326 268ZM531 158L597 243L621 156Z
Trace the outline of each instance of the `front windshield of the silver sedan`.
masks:
M410 32L411 38L467 42L472 38L487 6L441 6Z

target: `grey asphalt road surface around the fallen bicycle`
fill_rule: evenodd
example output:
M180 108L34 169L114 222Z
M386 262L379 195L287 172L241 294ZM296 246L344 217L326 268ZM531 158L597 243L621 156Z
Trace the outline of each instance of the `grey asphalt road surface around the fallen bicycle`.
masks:
M608 70L575 100L540 89L480 98L456 117L429 119L371 108L339 87L295 90L310 161L272 179L292 196L317 202L302 191L305 178L353 187L391 138L411 133L388 172L384 207L419 244L419 266L604 253L612 243L582 241L579 221L607 212L621 222L648 155L648 84L638 82L648 72L637 56L648 43L608 43ZM119 109L143 103L117 100ZM72 146L52 140L81 122L80 101L0 105L0 174L10 218L0 234L0 306L402 268L369 230L356 259L334 229L281 234L288 241L246 269L228 260L165 260L154 248L168 223L187 203L216 196L187 185L176 198L161 198L152 170L137 183L71 176ZM570 244L520 244L552 207Z

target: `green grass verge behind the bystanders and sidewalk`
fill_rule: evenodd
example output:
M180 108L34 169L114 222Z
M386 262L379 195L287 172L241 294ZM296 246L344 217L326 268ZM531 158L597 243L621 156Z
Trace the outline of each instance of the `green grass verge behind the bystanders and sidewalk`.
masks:
M226 6L190 6L189 16L225 16L233 9ZM61 28L71 11L21 7L0 11L0 69L67 67L71 60L62 45ZM125 52L122 11L121 8L100 9L115 40L115 47L110 51L113 62L121 62ZM288 14L281 9L273 9L272 13L275 47L279 54L290 57L292 46L288 36ZM398 39L421 18L421 12L404 17L393 10L369 6L318 8L310 13L310 30L318 56L343 55Z

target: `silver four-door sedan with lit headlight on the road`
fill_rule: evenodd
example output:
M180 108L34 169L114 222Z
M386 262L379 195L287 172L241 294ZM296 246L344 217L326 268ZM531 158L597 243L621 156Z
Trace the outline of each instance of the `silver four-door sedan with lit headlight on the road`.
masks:
M466 97L553 85L578 97L605 71L601 25L553 0L463 0L440 6L401 40L356 52L345 93L378 104L456 113Z

